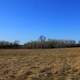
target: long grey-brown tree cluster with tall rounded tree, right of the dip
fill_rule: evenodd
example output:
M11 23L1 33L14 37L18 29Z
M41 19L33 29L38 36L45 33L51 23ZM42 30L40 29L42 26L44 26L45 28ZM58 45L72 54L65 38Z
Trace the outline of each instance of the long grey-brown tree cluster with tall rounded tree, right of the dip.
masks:
M37 41L31 41L25 43L24 47L28 49L71 48L71 47L80 47L80 41L76 43L75 40L46 39L45 36L40 36L39 40Z

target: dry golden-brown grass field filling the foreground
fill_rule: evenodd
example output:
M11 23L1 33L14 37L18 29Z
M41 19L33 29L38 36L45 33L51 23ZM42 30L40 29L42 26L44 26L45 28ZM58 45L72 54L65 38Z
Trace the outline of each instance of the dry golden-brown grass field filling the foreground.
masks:
M0 50L0 80L80 80L80 48Z

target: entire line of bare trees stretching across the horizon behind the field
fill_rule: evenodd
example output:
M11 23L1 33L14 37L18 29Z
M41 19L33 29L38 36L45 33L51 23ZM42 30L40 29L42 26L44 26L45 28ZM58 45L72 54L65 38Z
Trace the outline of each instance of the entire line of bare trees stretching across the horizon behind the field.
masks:
M45 36L40 36L38 40L30 41L23 45L21 45L19 41L0 41L0 49L47 49L71 47L80 47L80 41L77 43L75 40L46 39Z

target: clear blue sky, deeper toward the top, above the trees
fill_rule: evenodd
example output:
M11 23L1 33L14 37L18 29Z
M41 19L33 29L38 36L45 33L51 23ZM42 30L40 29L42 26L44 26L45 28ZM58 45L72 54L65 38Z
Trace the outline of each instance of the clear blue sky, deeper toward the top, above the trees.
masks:
M0 40L40 35L80 40L80 0L0 0Z

